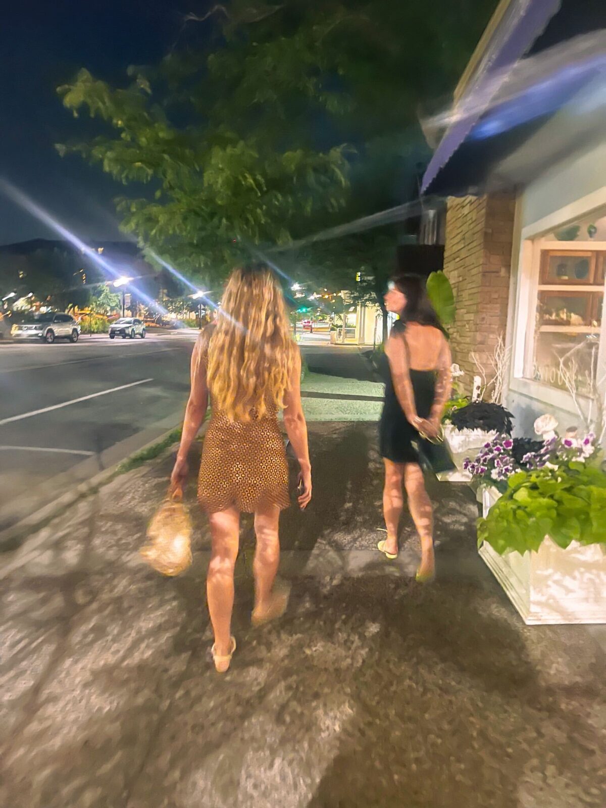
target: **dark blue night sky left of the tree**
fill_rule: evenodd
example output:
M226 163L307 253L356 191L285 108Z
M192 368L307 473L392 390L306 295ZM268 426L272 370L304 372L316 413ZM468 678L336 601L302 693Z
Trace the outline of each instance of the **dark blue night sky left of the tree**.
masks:
M78 137L56 87L86 67L124 82L131 64L158 61L179 37L175 0L23 0L2 11L0 27L0 176L32 196L83 240L124 238L112 198L124 186L53 144ZM89 126L84 122L83 126ZM0 193L0 244L57 238Z

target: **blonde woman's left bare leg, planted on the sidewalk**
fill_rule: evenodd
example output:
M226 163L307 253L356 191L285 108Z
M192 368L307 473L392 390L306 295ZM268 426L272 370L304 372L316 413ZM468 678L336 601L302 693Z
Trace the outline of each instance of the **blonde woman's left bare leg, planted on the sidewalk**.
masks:
M238 557L240 512L234 508L209 514L213 552L208 565L206 594L215 634L215 651L231 650L231 613L234 608L234 566Z

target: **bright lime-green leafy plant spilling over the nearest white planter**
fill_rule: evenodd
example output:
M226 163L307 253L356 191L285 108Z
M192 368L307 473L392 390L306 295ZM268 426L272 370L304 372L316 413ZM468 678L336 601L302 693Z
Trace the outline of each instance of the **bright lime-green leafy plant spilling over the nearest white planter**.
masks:
M549 536L559 547L571 541L606 544L606 473L600 457L512 474L507 490L478 520L478 545L497 553L537 551Z

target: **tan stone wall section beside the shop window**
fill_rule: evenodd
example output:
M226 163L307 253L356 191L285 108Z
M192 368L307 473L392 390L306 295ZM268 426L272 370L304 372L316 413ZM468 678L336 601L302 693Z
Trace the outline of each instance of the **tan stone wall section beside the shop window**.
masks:
M505 338L516 200L513 194L448 199L444 272L457 301L450 328L452 361L467 374L471 392L475 351L490 378L490 356Z

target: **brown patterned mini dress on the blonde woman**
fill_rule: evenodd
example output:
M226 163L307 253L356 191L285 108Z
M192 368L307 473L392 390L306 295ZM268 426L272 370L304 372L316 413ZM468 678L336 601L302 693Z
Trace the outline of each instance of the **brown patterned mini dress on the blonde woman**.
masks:
M205 366L208 342L201 356ZM212 415L200 463L200 505L208 513L229 507L245 513L271 505L288 507L288 461L277 410L247 423L230 421L213 408L213 391L209 393Z

